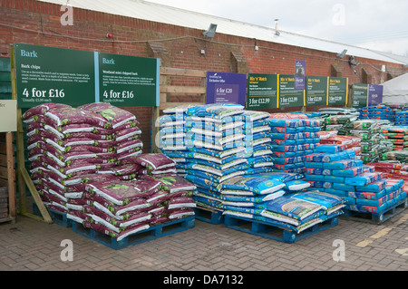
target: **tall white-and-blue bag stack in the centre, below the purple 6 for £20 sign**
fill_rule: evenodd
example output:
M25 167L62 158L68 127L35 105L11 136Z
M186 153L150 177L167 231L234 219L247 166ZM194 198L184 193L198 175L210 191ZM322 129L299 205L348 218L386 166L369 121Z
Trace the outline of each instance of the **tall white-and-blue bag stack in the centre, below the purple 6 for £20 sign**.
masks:
M244 107L209 104L164 112L160 149L177 162L178 173L197 186L198 207L222 210L219 185L246 174L253 156L246 147Z

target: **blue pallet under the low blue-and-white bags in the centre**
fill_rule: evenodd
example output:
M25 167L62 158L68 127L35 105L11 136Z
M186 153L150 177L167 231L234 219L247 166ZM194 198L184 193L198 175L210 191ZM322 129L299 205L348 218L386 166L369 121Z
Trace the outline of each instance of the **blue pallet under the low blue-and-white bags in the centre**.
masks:
M290 244L336 226L338 224L338 216L331 217L323 223L310 226L298 234L293 229L288 229L285 226L277 226L277 224L274 223L248 219L245 217L227 215L225 216L224 224L231 229Z

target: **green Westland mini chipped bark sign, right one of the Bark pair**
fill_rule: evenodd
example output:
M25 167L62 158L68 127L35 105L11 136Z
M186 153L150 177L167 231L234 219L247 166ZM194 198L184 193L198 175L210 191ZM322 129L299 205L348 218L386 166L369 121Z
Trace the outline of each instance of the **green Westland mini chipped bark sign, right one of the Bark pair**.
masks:
M116 106L159 106L158 59L98 53L98 64L99 101Z

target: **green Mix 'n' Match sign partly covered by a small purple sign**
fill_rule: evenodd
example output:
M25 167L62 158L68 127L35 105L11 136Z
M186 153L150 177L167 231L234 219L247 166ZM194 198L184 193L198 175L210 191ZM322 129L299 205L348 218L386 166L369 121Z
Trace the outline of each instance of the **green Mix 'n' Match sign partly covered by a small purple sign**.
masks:
M305 90L295 89L295 76L279 75L279 107L294 107L305 105Z

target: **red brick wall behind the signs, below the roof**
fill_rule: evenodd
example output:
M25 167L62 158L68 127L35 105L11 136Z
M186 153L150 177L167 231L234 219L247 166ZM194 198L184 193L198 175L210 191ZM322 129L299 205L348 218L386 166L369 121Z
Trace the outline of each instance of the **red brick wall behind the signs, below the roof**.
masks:
M83 9L73 10L73 26L60 23L60 5L34 0L0 0L0 57L9 57L10 43L30 43L102 53L159 57L162 66L218 72L293 74L295 60L306 61L306 75L348 77L349 83L373 84L403 73L401 65L356 58L357 74L348 58L339 59L302 47L217 33L212 40L202 31ZM108 39L106 34L112 34ZM173 39L173 40L171 40ZM155 41L161 40L161 41ZM205 53L200 53L204 50ZM381 65L393 73L381 72ZM172 85L199 85L196 79L172 78ZM189 96L172 101L197 101ZM151 108L125 108L141 121L145 150L151 148ZM296 111L297 108L291 111Z

